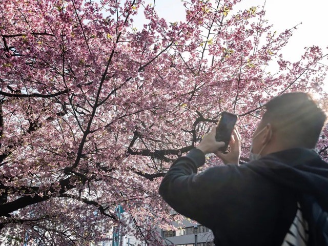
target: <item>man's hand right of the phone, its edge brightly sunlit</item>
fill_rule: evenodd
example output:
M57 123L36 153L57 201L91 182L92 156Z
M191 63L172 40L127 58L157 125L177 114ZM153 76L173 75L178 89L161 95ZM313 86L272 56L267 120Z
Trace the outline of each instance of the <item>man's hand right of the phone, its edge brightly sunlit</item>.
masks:
M241 144L241 138L240 134L236 127L234 127L234 130L232 131L231 139L230 139L230 152L227 154L223 154L220 151L216 151L215 154L217 157L221 158L224 162L224 164L239 164L239 158L240 158L240 144Z

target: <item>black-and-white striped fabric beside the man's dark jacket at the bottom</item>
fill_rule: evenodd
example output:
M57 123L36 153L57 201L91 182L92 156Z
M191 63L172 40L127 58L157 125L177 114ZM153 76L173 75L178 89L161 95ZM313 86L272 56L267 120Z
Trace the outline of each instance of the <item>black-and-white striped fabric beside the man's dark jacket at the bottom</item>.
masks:
M297 202L295 219L286 234L281 246L306 246L309 241L309 224L304 219L301 206Z

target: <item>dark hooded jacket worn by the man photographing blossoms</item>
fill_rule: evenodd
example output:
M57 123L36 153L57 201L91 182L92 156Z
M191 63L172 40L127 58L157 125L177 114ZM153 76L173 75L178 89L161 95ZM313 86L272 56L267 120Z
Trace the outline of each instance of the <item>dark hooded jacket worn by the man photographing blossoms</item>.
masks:
M198 149L178 158L159 193L175 211L210 228L216 245L280 246L300 194L328 207L328 164L312 150L285 150L196 174L204 162Z

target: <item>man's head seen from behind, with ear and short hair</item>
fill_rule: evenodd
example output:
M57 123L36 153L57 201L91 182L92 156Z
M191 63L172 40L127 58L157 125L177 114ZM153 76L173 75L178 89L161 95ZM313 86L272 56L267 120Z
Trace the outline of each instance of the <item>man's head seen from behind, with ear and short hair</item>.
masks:
M291 148L313 149L326 115L303 92L274 97L264 105L265 113L253 135L253 153L262 155Z

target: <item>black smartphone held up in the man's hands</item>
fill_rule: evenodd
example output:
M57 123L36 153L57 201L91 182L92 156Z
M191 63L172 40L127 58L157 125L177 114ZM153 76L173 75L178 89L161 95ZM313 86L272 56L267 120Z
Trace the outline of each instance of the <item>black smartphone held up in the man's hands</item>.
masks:
M220 115L220 120L219 123L217 124L216 127L216 134L215 134L215 139L218 142L224 142L224 146L219 149L219 151L226 152L232 130L234 129L234 126L237 121L237 115L229 113L227 111L223 111Z

